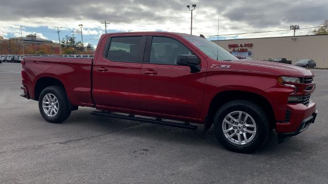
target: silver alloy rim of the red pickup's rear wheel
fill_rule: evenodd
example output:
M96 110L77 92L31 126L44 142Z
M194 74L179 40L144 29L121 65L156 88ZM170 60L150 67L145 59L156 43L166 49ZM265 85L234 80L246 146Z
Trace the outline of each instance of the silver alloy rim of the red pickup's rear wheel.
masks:
M58 100L53 94L47 94L42 100L42 108L48 117L54 117L58 113Z

